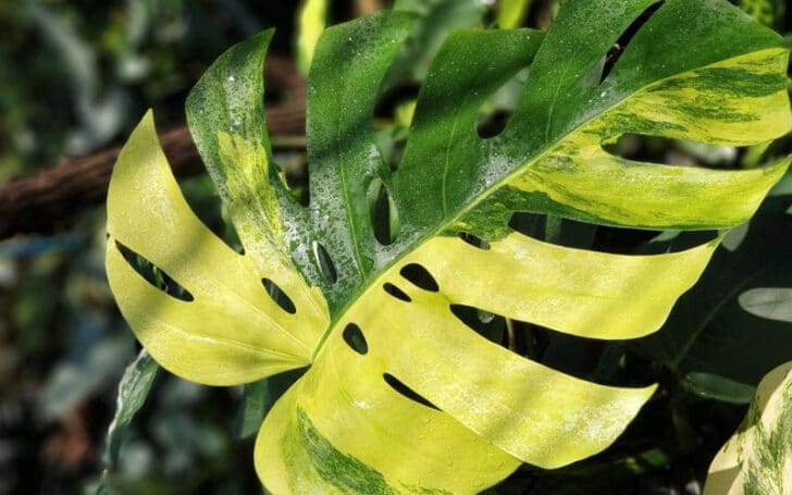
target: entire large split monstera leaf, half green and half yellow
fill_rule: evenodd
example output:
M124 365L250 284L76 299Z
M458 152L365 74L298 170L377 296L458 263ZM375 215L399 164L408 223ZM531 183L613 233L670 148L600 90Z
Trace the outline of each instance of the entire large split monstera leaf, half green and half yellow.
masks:
M604 70L644 12L649 18ZM108 276L164 368L232 385L310 367L256 444L256 468L275 493L474 493L520 462L555 468L601 451L654 387L569 376L490 342L451 309L581 338L639 337L695 283L717 239L620 256L522 235L511 215L728 228L752 215L788 165L678 168L604 150L626 133L728 146L787 133L788 53L726 1L577 0L546 34L453 34L392 170L375 145L373 110L411 22L382 12L322 35L307 96L307 208L272 162L263 120L271 33L232 48L195 87L190 131L244 255L190 212L150 114L113 173ZM481 138L479 108L529 65L506 129ZM375 236L370 200L382 188L398 213L395 239ZM122 247L189 297L149 284ZM281 304L262 282L280 289Z

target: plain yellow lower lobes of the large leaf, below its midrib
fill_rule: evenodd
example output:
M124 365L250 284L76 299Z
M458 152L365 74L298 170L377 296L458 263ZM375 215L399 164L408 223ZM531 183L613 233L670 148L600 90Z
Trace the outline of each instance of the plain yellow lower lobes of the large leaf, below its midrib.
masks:
M602 451L654 386L603 386L524 359L466 326L450 305L557 323L584 337L641 336L663 322L716 245L629 257L520 234L488 250L456 237L430 239L371 284L334 325L311 369L275 405L257 442L260 477L275 493L308 493L321 480L350 480L339 493L355 493L355 486L368 487L358 493L433 486L477 493L518 460L553 469ZM438 290L403 277L410 263L425 268ZM394 297L385 284L410 300ZM352 323L364 351L344 338ZM438 409L399 395L385 374ZM322 442L297 433L301 416Z

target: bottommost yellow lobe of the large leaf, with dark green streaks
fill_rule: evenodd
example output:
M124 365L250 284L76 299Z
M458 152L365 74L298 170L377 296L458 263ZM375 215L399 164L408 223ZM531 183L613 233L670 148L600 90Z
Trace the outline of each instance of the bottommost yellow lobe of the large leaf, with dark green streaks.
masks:
M343 338L327 347L259 432L256 469L272 493L475 494L520 465L448 414L392 389L383 354L405 354L360 356Z

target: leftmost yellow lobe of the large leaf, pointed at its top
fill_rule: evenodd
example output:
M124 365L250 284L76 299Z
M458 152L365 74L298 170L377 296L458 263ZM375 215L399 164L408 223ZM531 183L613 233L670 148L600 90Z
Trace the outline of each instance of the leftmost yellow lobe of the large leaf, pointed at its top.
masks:
M330 320L320 293L284 276L290 267L262 272L195 216L162 152L151 112L115 164L108 233L113 295L137 338L169 371L198 383L231 385L308 364L317 335ZM163 270L194 300L175 299L146 282L116 242ZM294 314L267 295L264 277L288 295Z

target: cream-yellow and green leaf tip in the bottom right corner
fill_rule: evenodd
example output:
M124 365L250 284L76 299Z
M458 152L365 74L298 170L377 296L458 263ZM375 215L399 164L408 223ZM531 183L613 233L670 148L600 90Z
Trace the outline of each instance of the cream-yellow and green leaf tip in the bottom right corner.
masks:
M704 495L792 493L792 362L759 383L745 421L709 466Z

